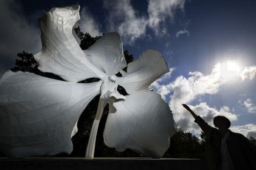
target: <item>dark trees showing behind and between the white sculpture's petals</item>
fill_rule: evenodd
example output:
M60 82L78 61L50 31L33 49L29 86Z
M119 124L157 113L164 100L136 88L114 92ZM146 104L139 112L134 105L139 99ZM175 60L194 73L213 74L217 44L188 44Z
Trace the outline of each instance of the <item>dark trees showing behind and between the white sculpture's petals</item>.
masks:
M101 36L92 37L89 33L81 32L79 26L75 28L77 36L80 38L80 47L82 50L88 49L93 45ZM133 55L127 50L124 52L125 60L128 63L133 61ZM12 71L28 71L33 72L36 75L48 77L51 79L62 80L59 76L51 74L49 72L41 72L37 67L38 63L35 61L32 54L22 52L18 53L19 59L16 59L15 67L11 68ZM127 67L123 70L126 71ZM122 75L118 72L116 76L121 77ZM98 78L90 78L78 83L92 83L99 81ZM123 95L128 95L124 88L118 86L118 91ZM99 101L99 95L88 104L86 109L82 112L78 120L78 132L72 137L72 142L74 145L74 150L71 155L59 154L59 157L84 157L86 152L87 143L89 140L91 127L93 120L97 111L97 105ZM116 152L114 148L108 148L104 144L103 131L106 123L106 118L108 117L109 106L106 105L100 120L96 147L95 147L95 157L142 157L141 155L135 153L130 149L126 149L124 152ZM184 132L182 128L176 126L177 133L170 139L170 148L165 152L165 158L203 158L205 139L204 134L201 133L200 138L193 135L190 132ZM250 137L250 142L256 146L256 140Z

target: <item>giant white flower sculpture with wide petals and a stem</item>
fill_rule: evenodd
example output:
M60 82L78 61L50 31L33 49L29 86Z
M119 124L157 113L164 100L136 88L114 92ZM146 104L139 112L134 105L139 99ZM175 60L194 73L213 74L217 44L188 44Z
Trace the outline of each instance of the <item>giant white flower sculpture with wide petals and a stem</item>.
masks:
M168 71L164 58L146 50L122 71L126 62L120 36L105 34L82 51L72 35L78 19L78 5L52 8L39 19L42 48L34 55L38 68L66 81L20 71L7 71L1 78L0 150L8 157L70 154L77 120L100 93L86 156L94 155L99 120L109 103L105 144L161 157L175 133L174 120L167 103L148 86ZM122 77L115 76L118 71ZM93 77L101 80L77 83ZM118 84L130 95L118 93Z

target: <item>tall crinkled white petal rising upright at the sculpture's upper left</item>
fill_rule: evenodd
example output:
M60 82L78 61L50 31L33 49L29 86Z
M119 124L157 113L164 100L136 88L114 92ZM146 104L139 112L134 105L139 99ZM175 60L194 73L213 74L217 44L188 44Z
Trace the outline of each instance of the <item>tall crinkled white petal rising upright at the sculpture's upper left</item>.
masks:
M102 78L105 74L95 67L81 50L72 34L79 20L79 5L52 8L39 18L42 49L34 55L38 69L52 72L69 82Z

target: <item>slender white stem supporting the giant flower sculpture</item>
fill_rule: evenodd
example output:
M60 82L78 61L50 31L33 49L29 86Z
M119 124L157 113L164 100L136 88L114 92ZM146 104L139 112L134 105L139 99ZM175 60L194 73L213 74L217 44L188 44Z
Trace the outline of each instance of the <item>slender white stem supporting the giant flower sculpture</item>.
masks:
M95 142L97 131L99 127L100 118L104 109L105 102L102 99L99 99L97 112L93 121L92 130L90 133L90 138L86 148L86 158L93 158L94 157L94 149L95 149Z

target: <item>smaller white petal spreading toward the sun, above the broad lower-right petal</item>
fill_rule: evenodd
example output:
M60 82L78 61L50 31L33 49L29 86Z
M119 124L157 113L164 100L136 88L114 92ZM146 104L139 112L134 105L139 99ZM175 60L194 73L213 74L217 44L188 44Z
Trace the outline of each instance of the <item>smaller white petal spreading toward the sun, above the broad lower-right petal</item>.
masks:
M146 50L139 59L127 66L127 74L117 78L117 84L124 87L127 93L148 90L148 86L163 74L168 72L167 63L161 53L156 50Z

